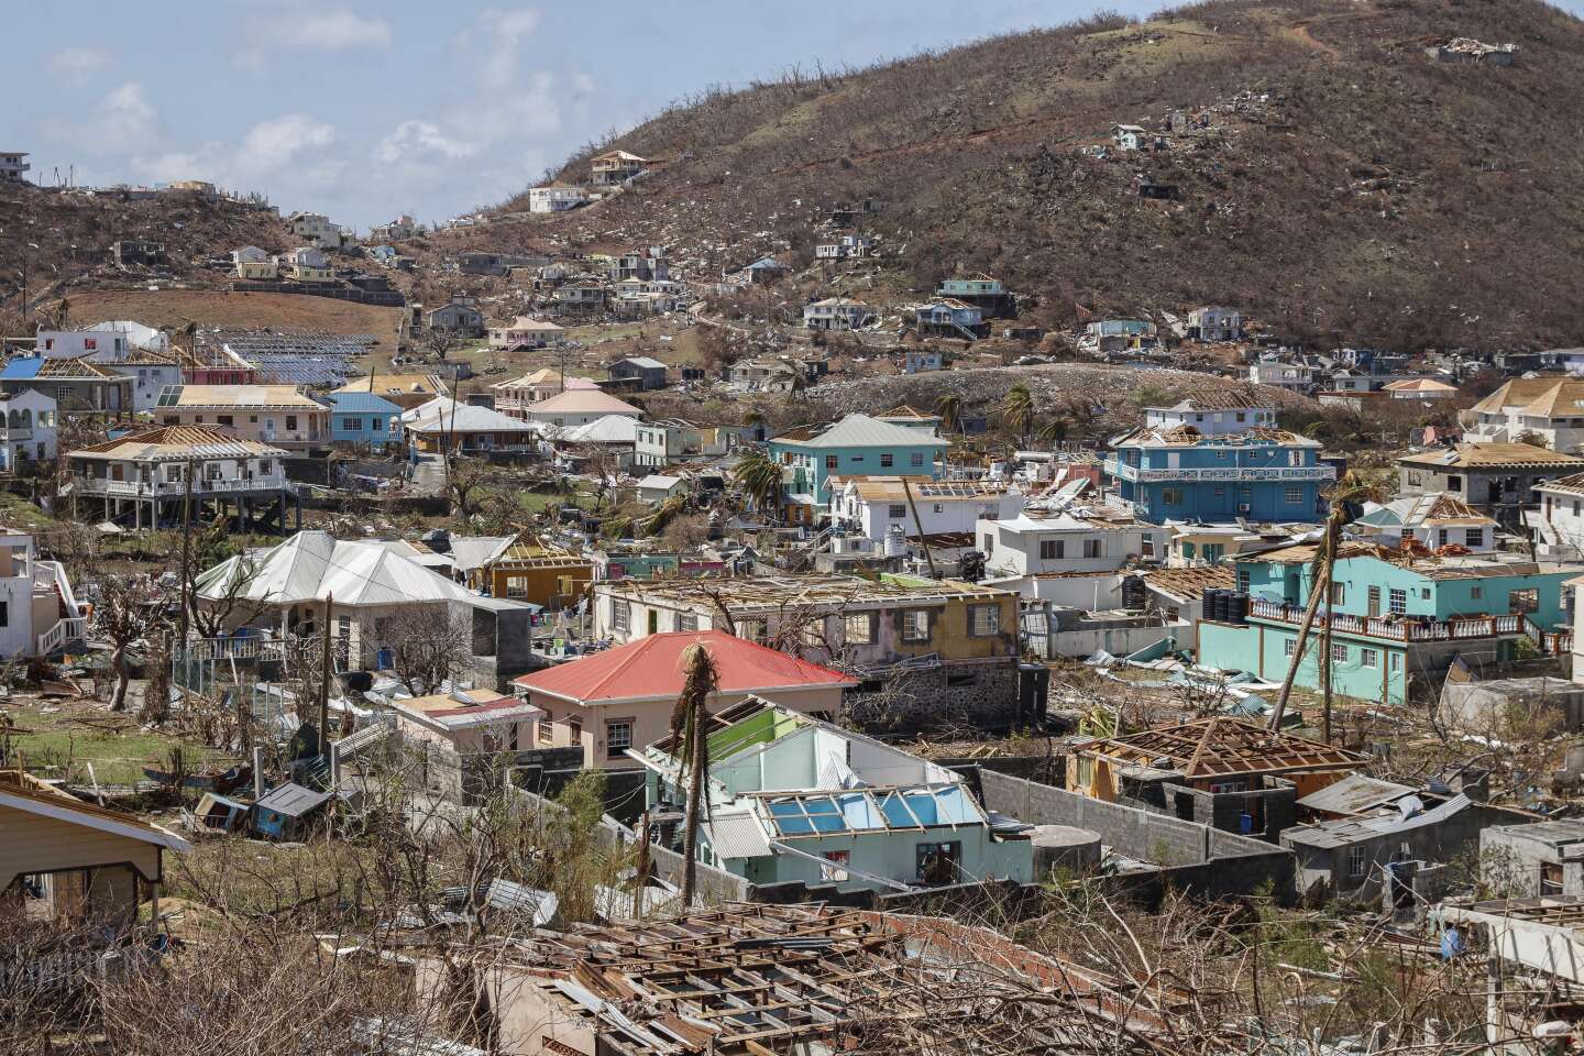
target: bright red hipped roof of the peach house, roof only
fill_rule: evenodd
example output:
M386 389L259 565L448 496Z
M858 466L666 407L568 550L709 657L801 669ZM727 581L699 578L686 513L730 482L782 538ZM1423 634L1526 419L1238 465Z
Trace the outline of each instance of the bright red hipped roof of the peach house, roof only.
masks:
M683 690L683 651L694 643L702 643L714 657L721 670L722 693L857 686L851 674L744 641L724 630L648 635L512 681L540 693L583 703L676 697Z

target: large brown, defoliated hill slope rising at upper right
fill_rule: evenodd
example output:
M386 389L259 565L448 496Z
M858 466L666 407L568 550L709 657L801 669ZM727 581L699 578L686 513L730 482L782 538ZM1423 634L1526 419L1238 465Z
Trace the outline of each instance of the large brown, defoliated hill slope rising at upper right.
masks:
M1516 63L1426 55L1460 36ZM1581 103L1584 24L1536 0L1226 0L689 100L599 144L662 161L630 192L459 237L806 263L876 198L882 287L987 271L1047 325L1226 302L1316 342L1578 344ZM1080 152L1178 112L1167 150Z

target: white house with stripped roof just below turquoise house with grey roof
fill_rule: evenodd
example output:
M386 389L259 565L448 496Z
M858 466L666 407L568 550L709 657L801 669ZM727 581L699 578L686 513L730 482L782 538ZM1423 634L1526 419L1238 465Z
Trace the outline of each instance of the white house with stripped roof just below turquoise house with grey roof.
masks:
M876 543L884 541L892 526L900 526L903 535L914 537L919 535L920 524L925 535L947 532L971 535L980 519L1015 518L1023 510L1020 491L979 481L928 477L832 477L827 484L830 522L843 524Z

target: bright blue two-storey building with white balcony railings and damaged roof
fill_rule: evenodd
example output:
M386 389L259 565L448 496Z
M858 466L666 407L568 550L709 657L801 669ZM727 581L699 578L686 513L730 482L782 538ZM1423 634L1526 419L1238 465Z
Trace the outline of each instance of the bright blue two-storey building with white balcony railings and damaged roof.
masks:
M1275 412L1228 393L1150 407L1112 442L1106 472L1134 515L1166 521L1319 521L1337 470L1319 442L1278 429Z

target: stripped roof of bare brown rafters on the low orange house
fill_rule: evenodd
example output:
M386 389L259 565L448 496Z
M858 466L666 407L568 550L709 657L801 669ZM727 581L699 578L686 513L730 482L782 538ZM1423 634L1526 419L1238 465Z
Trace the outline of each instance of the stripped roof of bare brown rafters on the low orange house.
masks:
M1369 762L1359 752L1291 733L1272 733L1262 724L1228 716L1083 741L1072 747L1083 755L1134 766L1180 769L1185 777L1351 771Z

